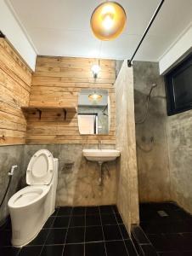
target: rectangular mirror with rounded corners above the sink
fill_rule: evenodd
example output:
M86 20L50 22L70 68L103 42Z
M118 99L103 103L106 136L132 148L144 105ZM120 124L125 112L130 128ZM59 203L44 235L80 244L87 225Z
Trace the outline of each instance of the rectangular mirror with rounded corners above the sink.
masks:
M108 134L110 97L107 90L83 89L78 97L80 134Z

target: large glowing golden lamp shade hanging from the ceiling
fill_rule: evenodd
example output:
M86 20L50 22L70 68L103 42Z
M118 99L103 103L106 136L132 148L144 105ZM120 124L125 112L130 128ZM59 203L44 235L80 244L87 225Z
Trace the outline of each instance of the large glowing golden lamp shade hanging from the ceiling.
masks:
M91 28L96 38L103 41L117 38L126 26L126 12L119 3L101 3L93 11Z

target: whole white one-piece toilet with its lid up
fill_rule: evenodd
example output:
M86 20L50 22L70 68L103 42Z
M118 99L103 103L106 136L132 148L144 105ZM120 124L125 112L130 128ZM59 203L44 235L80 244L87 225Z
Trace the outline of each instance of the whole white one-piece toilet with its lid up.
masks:
M58 167L58 159L47 149L40 149L31 157L26 171L29 186L8 201L14 247L25 246L33 240L54 212Z

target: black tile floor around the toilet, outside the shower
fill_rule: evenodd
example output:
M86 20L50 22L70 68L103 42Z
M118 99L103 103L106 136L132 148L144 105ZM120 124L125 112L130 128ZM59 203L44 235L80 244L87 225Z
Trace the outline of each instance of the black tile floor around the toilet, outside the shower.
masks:
M37 238L10 244L8 222L0 230L1 256L137 256L116 206L59 207Z

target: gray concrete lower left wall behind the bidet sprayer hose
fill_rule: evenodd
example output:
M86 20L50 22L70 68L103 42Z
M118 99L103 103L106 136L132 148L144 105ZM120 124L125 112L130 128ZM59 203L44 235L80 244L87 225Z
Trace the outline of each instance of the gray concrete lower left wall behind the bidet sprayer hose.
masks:
M22 162L24 159L24 145L2 146L0 147L0 201L8 185L8 172L11 166L17 165L14 176L8 189L8 195L0 208L0 222L8 216L8 199L23 186L24 172Z

